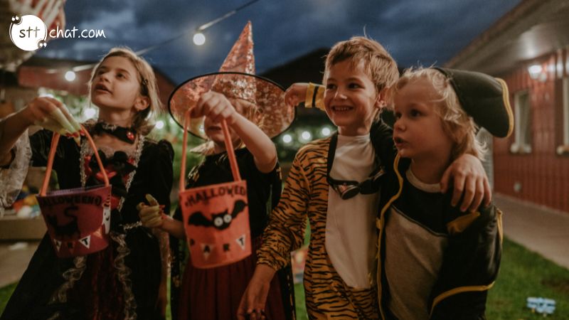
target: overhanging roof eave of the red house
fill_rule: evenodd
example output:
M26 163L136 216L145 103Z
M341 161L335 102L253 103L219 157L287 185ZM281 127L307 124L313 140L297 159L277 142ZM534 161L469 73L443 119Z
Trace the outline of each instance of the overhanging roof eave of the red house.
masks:
M569 46L569 1L523 0L445 66L499 75Z

